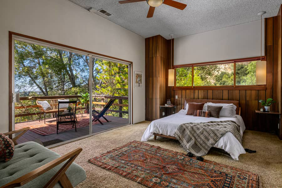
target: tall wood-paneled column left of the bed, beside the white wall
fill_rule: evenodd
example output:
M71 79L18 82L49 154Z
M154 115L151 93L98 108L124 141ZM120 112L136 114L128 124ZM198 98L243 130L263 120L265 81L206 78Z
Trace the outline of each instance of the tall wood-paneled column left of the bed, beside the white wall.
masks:
M169 45L169 48L168 48ZM159 105L170 98L168 69L170 68L170 40L160 35L145 39L145 119L159 119Z

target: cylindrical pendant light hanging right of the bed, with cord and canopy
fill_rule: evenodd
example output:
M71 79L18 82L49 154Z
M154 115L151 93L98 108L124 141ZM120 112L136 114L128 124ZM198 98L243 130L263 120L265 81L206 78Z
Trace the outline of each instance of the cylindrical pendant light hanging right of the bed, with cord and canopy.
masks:
M260 61L256 62L256 85L266 85L266 61L262 61L262 15L266 12L260 12Z

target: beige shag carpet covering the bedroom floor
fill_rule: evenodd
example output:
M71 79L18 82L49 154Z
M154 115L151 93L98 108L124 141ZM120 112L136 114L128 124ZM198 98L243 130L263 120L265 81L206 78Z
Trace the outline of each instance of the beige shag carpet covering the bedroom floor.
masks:
M141 122L128 125L111 131L100 133L89 138L81 139L69 144L61 145L52 150L58 154L81 147L83 150L75 162L86 171L87 178L77 187L144 187L134 181L128 180L118 174L99 168L88 162L88 159L105 153L118 146L122 146L133 140L141 140L141 137L150 122ZM157 140L147 142L178 152L185 151L176 140L158 137ZM212 150L205 159L216 161L225 165L234 166L243 170L257 173L261 177L264 188L282 187L282 141L277 136L256 131L245 131L243 147L257 150L254 154L242 154L239 160Z

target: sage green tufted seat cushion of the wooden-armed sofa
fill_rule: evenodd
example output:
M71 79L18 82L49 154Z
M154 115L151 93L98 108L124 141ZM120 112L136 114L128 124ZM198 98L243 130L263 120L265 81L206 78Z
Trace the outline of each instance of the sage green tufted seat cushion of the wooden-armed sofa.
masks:
M59 154L36 142L25 142L15 145L13 158L8 162L0 162L0 187L59 157ZM65 162L21 187L43 187ZM86 179L85 171L76 163L72 163L65 174L73 187ZM55 187L61 186L59 183L56 183Z

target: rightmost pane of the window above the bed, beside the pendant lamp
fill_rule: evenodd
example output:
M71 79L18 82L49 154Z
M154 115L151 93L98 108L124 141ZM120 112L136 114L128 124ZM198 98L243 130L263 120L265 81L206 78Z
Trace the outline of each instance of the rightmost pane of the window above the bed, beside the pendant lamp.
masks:
M256 85L256 61L236 63L236 85Z

